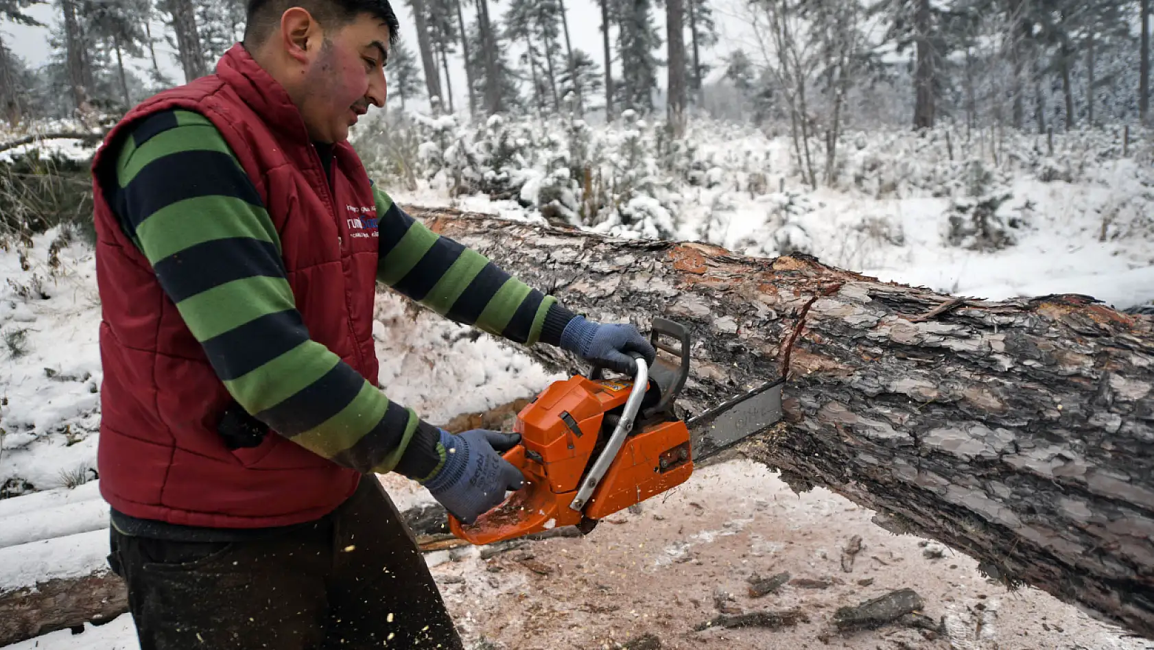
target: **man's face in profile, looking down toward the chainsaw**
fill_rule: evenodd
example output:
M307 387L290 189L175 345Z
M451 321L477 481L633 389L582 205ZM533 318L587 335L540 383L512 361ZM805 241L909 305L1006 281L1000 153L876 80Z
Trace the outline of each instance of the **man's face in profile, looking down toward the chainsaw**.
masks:
M369 14L325 35L307 65L299 106L313 141L344 141L369 104L384 106L388 55L389 25Z

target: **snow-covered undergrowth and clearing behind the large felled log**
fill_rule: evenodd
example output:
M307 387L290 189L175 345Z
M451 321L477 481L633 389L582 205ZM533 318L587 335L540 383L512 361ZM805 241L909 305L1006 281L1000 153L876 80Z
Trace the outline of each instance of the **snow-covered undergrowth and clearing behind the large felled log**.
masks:
M1055 136L1051 154L1033 134L850 131L834 181L815 189L787 136L706 120L677 142L628 113L595 128L379 115L357 133L370 174L406 204L747 255L808 252L991 300L1084 293L1118 309L1154 298L1152 142L1147 131L1129 148L1121 129L1073 131Z

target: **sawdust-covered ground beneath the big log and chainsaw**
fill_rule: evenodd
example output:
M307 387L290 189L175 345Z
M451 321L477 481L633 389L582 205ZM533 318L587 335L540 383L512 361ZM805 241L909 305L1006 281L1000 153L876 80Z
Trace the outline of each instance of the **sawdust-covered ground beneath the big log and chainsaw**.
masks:
M891 535L870 522L872 515L823 489L794 494L764 467L732 461L699 470L644 502L640 514L614 515L620 526L526 545L542 566L526 566L516 553L481 560L480 550L469 547L433 572L470 647L613 649L650 634L674 650L1154 648L1041 591L1010 592L956 551L926 557L920 538ZM854 536L861 541L850 544ZM847 546L856 555L849 573ZM784 572L844 580L826 589L786 583L749 596L751 577ZM923 600L919 618L852 633L835 627L839 607L906 588ZM727 609L796 610L804 618L777 628L695 630L718 615L719 590L734 595ZM943 618L949 634L923 629L927 620Z

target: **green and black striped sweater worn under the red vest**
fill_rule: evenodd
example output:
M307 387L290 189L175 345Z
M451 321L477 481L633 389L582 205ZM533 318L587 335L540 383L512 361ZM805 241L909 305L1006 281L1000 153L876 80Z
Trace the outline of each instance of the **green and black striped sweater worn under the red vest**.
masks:
M237 402L345 467L435 475L444 462L439 430L308 339L272 220L216 127L168 111L122 142L110 204ZM331 152L317 150L328 171ZM559 345L572 312L374 192L379 280L455 322Z

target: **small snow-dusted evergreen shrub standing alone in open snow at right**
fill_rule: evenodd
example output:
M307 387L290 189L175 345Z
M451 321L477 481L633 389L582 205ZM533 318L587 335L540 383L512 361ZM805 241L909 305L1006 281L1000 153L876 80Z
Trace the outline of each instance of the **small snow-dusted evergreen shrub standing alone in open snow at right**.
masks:
M1014 214L1013 192L981 160L971 160L967 192L950 203L946 242L971 250L1002 250L1017 243L1013 230L1026 225L1027 203Z

